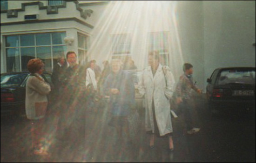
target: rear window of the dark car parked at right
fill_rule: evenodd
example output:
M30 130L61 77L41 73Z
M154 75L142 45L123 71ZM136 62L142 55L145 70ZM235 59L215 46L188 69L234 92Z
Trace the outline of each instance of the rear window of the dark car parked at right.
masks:
M221 72L218 85L249 84L255 85L255 70L225 70Z

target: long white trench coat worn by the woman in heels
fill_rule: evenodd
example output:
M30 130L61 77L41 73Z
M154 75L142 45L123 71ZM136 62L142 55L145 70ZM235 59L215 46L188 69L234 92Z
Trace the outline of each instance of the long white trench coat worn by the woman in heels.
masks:
M146 131L153 131L153 133L155 133L152 110L153 99L155 104L155 118L160 136L164 136L173 131L169 99L172 98L174 84L174 76L168 66L159 65L155 77L153 77L153 72L150 66L142 72L138 89L140 94L145 97Z

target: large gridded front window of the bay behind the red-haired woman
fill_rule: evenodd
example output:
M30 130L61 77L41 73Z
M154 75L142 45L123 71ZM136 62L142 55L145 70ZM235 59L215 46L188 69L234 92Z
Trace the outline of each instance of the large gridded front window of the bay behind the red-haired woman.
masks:
M7 72L27 71L30 59L39 58L51 72L58 57L65 56L66 33L37 33L6 37Z

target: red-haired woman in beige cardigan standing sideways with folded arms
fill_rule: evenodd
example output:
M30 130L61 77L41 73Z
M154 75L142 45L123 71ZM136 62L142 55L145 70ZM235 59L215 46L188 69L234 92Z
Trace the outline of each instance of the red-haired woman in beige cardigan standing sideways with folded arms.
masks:
M27 64L31 73L26 85L26 115L31 120L31 135L33 152L35 155L47 155L47 150L42 144L43 140L43 118L47 110L47 94L51 87L41 77L44 63L40 59L31 59Z

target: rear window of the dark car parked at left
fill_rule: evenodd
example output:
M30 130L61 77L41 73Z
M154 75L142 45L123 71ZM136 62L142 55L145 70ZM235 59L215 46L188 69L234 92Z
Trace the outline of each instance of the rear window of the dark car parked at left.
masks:
M1 87L19 86L26 77L26 74L1 75Z

